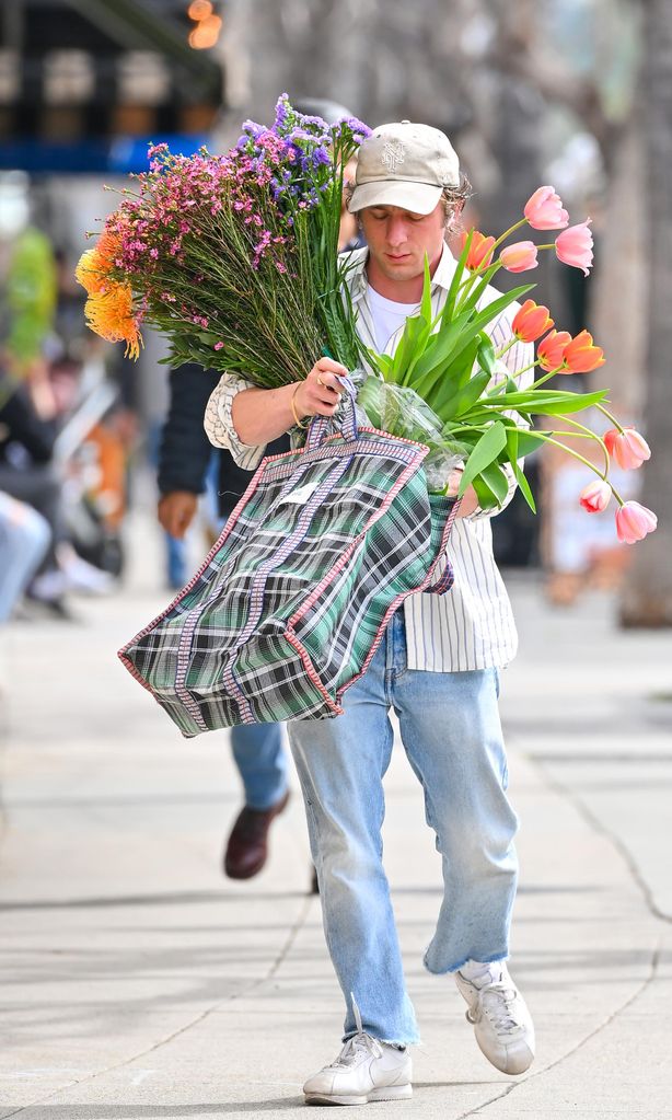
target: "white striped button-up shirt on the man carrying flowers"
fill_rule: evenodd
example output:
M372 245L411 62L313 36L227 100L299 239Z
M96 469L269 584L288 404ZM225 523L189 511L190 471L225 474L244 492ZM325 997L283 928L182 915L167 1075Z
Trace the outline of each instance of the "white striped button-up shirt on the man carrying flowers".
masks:
M362 342L377 351L371 304L367 298L366 249L351 254L347 283L357 318ZM446 246L432 277L431 295L435 316L446 302L456 262ZM501 292L488 287L480 300L485 306ZM512 304L488 325L487 334L495 349L512 339L511 323L519 305ZM412 314L412 312L411 312ZM393 354L401 337L400 327L389 339L385 354ZM517 377L521 386L529 384L532 372L519 375L533 361L532 346L516 342L502 357L510 376ZM502 371L501 376L504 376ZM224 374L213 392L205 413L205 430L215 447L226 447L241 467L253 470L261 461L264 447L241 442L233 426L231 405L233 398L251 383L233 374ZM299 437L299 432L296 431ZM292 433L293 435L293 433ZM508 493L504 508L515 491L515 479L510 468ZM459 517L450 534L446 559L455 569L455 584L447 595L421 592L411 595L404 603L408 668L429 672L465 672L473 669L504 666L514 656L517 635L511 603L504 581L493 556L491 516L500 510L477 508L467 517ZM444 564L445 566L445 564Z

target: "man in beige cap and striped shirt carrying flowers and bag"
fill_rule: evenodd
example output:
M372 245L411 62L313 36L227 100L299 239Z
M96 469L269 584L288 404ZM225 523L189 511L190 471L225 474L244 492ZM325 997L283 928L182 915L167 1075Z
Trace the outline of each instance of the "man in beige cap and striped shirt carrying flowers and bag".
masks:
M365 345L392 354L418 309L426 255L435 312L445 304L455 271L445 235L466 188L448 138L408 121L382 125L364 141L355 183L349 209L368 246L352 254L348 272L357 328ZM484 300L496 296L488 289ZM511 340L515 311L489 329L497 348ZM513 376L530 360L519 344L504 357ZM269 391L224 375L206 410L211 440L253 467L268 440L288 429L296 436L312 416L334 416L344 373L323 357L305 380ZM533 1060L532 1021L505 963L517 821L505 794L497 693L516 634L488 517L467 489L447 549L456 577L450 595L407 599L366 673L345 693L343 716L289 725L327 944L347 1005L340 1054L304 1086L310 1103L411 1095L408 1047L419 1040L418 1027L381 860L390 707L442 856L445 897L426 967L454 974L478 1045L498 1070L522 1073Z

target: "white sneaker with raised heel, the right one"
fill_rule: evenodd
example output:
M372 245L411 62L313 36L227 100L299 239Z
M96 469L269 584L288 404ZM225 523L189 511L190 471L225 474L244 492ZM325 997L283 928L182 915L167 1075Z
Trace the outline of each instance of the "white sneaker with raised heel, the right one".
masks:
M456 972L455 982L469 1005L467 1020L488 1062L502 1073L529 1070L534 1061L534 1025L506 964L484 965L483 974L469 980Z

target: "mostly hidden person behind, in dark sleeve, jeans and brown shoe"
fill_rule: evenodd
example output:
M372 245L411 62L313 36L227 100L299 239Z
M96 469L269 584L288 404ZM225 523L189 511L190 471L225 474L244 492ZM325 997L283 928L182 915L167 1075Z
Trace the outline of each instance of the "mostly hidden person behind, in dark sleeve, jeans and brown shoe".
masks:
M185 365L170 373L170 404L159 448L158 517L166 532L178 540L194 520L213 456L203 431L203 412L215 381L199 366ZM279 440L273 450L283 451L287 446L286 440ZM218 513L224 519L246 489L250 475L236 467L227 451L217 458ZM245 804L226 842L223 866L231 879L251 879L267 861L271 823L289 797L281 727L234 727L231 746Z

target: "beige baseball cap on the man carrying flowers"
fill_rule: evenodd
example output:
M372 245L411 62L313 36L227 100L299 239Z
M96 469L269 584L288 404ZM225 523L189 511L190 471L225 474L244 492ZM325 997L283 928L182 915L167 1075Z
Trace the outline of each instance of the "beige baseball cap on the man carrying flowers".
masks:
M381 124L357 152L348 209L401 206L430 214L445 187L459 185L459 160L448 137L429 124Z

